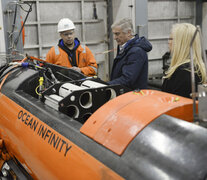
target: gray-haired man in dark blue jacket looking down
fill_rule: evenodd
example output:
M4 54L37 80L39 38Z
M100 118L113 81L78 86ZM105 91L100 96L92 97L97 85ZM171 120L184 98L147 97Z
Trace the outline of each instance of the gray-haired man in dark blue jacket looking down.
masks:
M117 55L113 62L109 84L121 84L132 90L146 89L148 56L152 45L145 37L133 35L131 19L122 19L111 26L116 40Z

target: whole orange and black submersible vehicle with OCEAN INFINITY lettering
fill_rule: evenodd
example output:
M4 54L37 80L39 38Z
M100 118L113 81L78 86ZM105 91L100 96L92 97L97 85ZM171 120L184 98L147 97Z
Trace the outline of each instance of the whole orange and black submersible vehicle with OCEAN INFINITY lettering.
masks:
M207 179L192 100L27 57L0 69L1 179Z

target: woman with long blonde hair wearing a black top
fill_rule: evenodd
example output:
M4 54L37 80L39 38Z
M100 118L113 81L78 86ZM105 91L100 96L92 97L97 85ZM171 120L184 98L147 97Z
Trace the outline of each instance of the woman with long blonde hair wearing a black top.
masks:
M168 41L171 64L164 76L162 91L190 98L191 70L190 43L196 27L189 23L175 24ZM197 34L193 43L193 58L196 89L199 83L206 82L206 70L202 60L200 37Z

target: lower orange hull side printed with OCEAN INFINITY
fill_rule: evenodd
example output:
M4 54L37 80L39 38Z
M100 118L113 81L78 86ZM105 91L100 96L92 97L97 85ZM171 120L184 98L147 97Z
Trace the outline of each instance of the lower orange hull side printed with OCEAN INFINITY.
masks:
M1 138L34 179L123 179L0 94Z

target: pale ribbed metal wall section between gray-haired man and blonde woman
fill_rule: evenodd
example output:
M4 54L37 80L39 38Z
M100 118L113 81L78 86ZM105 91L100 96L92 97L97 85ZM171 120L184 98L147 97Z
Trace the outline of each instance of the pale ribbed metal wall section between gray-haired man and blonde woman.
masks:
M168 51L168 37L173 24L195 23L195 2L180 0L148 1L149 76L162 74L162 56Z

